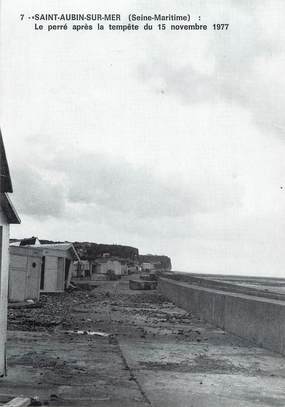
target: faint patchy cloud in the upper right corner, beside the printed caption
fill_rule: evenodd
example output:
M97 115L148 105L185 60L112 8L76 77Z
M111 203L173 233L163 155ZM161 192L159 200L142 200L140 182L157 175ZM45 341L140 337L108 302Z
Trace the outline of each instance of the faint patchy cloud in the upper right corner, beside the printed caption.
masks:
M234 13L231 4L222 7L229 30L219 37L211 33L207 40L195 38L196 48L184 37L169 37L168 47L157 40L161 55L153 53L151 64L149 57L141 61L139 77L154 93L175 96L183 104L239 105L251 112L262 130L284 136L285 38L279 16L285 5L239 3L232 2ZM205 18L214 21L216 14L211 5Z

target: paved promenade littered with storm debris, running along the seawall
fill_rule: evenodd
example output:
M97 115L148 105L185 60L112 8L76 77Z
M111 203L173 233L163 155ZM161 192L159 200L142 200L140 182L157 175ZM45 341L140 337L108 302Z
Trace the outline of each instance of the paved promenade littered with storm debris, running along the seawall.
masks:
M78 407L285 405L280 355L201 322L156 292L130 291L128 281L98 284L70 294L70 321L10 332L2 396ZM110 336L67 333L75 330Z

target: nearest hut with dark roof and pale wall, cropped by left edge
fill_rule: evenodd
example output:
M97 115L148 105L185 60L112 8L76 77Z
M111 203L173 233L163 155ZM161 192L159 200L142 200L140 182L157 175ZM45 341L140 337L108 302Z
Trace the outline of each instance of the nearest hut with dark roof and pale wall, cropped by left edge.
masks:
M6 375L9 225L20 223L7 195L9 192L13 192L13 188L0 132L0 376Z

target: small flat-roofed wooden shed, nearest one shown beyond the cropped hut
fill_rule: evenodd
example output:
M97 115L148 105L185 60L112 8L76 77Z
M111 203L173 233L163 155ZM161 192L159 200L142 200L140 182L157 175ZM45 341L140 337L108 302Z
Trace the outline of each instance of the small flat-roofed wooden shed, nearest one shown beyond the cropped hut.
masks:
M9 301L38 300L42 256L31 247L10 246Z

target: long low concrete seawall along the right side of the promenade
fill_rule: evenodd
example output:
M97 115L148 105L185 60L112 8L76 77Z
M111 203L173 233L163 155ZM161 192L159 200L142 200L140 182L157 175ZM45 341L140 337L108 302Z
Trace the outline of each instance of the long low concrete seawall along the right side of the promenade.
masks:
M258 346L285 355L285 301L159 278L159 291L179 307Z

